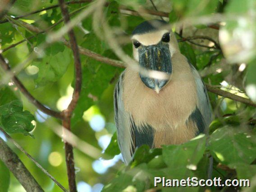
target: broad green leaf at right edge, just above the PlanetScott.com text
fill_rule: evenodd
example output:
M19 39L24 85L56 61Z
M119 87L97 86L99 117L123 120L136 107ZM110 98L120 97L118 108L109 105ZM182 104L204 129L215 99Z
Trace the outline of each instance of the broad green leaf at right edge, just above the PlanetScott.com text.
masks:
M211 155L222 164L250 164L256 158L255 136L240 128L225 127L215 130L210 136Z

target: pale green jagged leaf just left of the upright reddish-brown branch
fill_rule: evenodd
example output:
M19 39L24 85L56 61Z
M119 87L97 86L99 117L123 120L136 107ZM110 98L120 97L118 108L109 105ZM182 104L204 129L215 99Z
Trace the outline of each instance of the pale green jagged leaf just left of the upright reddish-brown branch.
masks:
M45 85L48 82L56 82L66 72L70 63L70 50L67 48L63 52L59 46L58 50L53 50L53 53L49 56L43 57L40 61L34 61L32 65L39 68L38 77L35 80L37 85ZM56 52L58 52L56 54ZM48 51L49 53L49 51Z

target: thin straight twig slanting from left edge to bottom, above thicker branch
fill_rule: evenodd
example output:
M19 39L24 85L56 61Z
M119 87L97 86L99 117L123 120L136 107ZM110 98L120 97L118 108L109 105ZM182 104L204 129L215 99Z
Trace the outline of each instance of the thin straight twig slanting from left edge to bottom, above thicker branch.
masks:
M37 165L37 167L38 167L39 169L41 169L42 172L43 172L44 174L46 174L54 183L56 183L56 185L58 185L64 192L68 192L68 190L65 189L65 187L63 187L51 174L49 174L49 172L48 172L46 169L44 169L31 155L29 155L29 154L27 153L27 151L25 151L25 150L23 149L22 146L20 146L17 142L15 142L14 139L13 139L12 137L10 137L10 136L5 132L5 130L4 130L3 128L0 127L0 131L1 131L2 133L4 133L4 134L5 134L5 137L7 137L8 140L11 141L21 152L23 152L25 155L27 155L27 157L28 157L30 160L32 160L32 162L33 162L35 165Z

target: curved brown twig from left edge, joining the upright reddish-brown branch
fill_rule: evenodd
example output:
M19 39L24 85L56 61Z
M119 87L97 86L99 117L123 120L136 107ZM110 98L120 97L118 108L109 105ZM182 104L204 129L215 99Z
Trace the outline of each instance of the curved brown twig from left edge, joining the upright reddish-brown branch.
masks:
M3 69L5 69L5 71L7 72L11 71L9 65L5 62L5 59L1 54L0 54L0 65L2 66ZM37 99L34 96L32 96L31 93L29 93L29 91L27 91L26 87L22 84L22 82L16 76L13 76L12 80L14 81L18 89L23 93L23 95L27 97L27 100L30 101L32 104L34 104L39 110L55 118L62 119L62 114L60 112L51 110L46 106L44 106L43 104L41 104L41 102L37 101Z

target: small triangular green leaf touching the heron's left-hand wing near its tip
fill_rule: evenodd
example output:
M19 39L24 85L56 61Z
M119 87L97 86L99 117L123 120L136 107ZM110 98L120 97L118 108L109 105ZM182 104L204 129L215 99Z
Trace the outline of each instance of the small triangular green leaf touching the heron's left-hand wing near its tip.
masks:
M115 155L120 154L118 141L117 141L117 134L114 133L114 135L111 138L110 144L105 149L102 158L105 160L113 159Z

